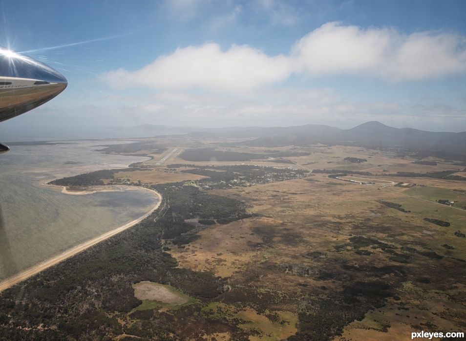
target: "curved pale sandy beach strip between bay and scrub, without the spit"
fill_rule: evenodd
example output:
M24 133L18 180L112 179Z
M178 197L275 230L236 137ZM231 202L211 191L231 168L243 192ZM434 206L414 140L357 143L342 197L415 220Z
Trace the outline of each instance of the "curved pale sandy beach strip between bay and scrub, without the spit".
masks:
M138 188L143 188L143 187L138 187ZM157 204L152 207L152 209L147 212L145 215L139 217L138 219L135 219L133 221L130 221L128 222L127 224L123 225L123 226L120 226L114 230L111 230L109 232L106 232L98 237L95 237L89 241L86 241L82 244L79 244L71 249L68 249L66 251L64 251L63 253L51 258L51 259L48 259L46 261L43 261L37 265L34 265L33 267L27 269L27 270L24 270L22 271L21 273L13 276L13 277L10 277L4 281L1 281L0 282L0 291L4 290L4 289L7 289L9 288L10 286L13 286L23 280L25 280L26 278L28 277L31 277L39 272L41 272L42 270L45 270L46 268L52 266L52 265L55 265L61 261L64 261L65 259L71 257L71 256L74 256L78 253L80 253L81 251L84 251L85 249L87 249L88 247L91 247L92 245L95 245L101 241L104 241L106 240L107 238L110 238L124 230L126 230L127 228L137 224L138 222L146 219L148 216L150 216L152 214L152 212L154 212L159 206L160 204L162 203L162 195L156 191L153 191L153 190L150 190L148 188L143 188L145 190L148 190L148 191L151 191L153 193L155 193L155 195L159 198L159 200L157 201ZM91 192L86 192L85 194L90 194Z

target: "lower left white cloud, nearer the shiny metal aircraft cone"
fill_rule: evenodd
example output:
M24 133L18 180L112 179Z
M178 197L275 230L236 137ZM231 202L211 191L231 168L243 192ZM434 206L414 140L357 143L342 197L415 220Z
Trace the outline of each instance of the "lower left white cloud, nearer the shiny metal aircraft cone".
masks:
M215 43L178 48L135 72L109 72L116 87L143 85L156 89L202 87L213 91L242 92L284 80L290 75L284 56L269 57L249 46L233 45L222 51Z

